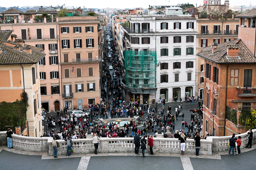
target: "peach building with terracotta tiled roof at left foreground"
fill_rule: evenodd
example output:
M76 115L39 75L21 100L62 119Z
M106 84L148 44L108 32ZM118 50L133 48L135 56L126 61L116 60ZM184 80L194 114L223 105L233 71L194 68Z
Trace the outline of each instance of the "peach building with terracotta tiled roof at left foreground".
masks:
M0 31L0 102L20 100L28 95L27 128L24 135L43 135L39 62L45 56L42 48L24 44L13 31Z

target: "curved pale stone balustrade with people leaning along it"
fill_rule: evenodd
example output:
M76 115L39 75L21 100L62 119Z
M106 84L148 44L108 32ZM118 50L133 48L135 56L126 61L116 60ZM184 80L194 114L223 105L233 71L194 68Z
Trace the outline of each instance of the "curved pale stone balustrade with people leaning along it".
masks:
M247 133L236 135L241 136L241 148L244 148L248 142ZM207 139L201 139L201 155L212 155L212 152L222 152L229 150L228 143L231 136L209 136ZM28 137L13 134L13 147L17 150L48 152L53 155L52 138L51 137ZM73 139L74 154L94 153L94 144L91 135L87 135L87 139ZM58 154L67 154L67 145L65 140L57 140ZM180 153L180 140L175 138L154 138L154 153ZM256 143L256 129L253 129L253 144ZM0 145L7 145L6 131L0 132ZM149 153L148 144L146 145L146 153ZM134 138L100 138L99 153L133 153L135 149ZM186 140L185 153L195 153L194 139Z

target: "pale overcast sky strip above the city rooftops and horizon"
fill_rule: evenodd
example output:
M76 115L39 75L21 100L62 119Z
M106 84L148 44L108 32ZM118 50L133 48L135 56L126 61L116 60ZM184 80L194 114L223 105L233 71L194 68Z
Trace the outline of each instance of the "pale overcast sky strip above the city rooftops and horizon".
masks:
M221 0L221 4L224 4L225 0ZM122 3L123 2L123 3ZM230 0L230 6L248 6L252 3L252 6L256 5L255 0ZM38 2L37 0L1 0L0 6L74 6L81 8L148 8L148 5L177 5L178 3L192 3L194 6L203 5L204 0L43 0Z

